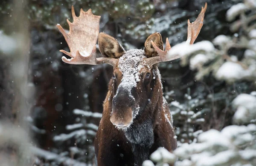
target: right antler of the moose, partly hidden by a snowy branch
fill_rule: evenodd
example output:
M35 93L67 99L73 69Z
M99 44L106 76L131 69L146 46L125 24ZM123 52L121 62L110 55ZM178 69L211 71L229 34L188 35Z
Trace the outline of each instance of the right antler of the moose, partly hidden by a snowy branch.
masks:
M203 26L204 13L206 9L207 9L207 3L205 3L204 8L202 7L202 10L198 15L197 19L195 20L195 22L190 23L188 20L188 37L186 40L187 44L193 44L195 42L195 39L198 37L198 34ZM171 57L167 57L167 52L171 49L168 38L166 38L165 51L159 49L153 41L151 41L151 43L159 56L145 59L148 66L152 66L155 63L159 63L159 62L166 62L166 61L171 61L171 60L180 58L180 55L173 55Z

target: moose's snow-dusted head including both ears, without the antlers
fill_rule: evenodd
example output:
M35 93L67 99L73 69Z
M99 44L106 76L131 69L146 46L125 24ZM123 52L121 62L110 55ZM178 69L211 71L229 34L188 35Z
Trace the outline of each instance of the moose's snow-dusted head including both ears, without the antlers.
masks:
M145 50L124 51L116 39L99 34L99 50L106 57L118 59L110 81L112 112L110 120L119 129L131 126L134 118L151 102L156 81L160 82L157 66L149 66L148 57L156 56L151 40L163 48L159 33L152 34L145 42ZM159 83L158 83L159 84Z

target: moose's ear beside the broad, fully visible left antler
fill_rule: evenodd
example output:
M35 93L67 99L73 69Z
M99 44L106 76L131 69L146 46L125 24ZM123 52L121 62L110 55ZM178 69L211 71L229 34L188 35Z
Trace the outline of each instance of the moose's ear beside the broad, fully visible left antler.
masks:
M99 51L104 57L112 58L119 58L125 52L114 37L105 33L99 33Z

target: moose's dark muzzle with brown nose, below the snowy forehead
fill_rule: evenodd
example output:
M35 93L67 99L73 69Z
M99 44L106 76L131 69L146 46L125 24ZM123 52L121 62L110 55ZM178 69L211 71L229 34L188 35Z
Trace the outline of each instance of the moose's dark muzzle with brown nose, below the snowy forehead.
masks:
M113 97L112 114L110 121L116 127L125 128L133 121L133 108L135 106L134 97L131 90L135 87L124 87L122 83L118 86L116 95Z

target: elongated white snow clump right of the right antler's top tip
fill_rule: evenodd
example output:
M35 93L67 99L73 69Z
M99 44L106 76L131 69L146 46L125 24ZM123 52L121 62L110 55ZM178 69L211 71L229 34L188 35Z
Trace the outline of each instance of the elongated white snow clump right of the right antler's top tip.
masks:
M236 5L231 6L230 9L227 10L227 20L232 21L236 18L237 15L239 15L241 12L245 11L247 6L244 5L244 3L238 3Z

